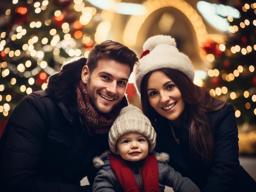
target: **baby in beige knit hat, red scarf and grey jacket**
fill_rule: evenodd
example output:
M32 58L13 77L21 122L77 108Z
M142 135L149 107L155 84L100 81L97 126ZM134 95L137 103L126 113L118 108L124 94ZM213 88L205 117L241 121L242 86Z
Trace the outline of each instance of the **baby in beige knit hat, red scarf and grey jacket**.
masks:
M123 108L108 136L111 152L93 159L99 169L94 192L164 192L165 185L175 192L200 192L167 164L168 154L154 151L156 132L139 108Z

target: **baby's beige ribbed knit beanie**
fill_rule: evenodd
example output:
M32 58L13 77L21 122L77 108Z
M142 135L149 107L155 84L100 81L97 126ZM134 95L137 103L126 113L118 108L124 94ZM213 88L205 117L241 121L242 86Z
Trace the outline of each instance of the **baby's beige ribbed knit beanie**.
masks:
M144 135L149 141L149 152L155 148L156 132L142 111L132 105L122 108L119 116L114 121L108 133L108 144L110 150L117 154L117 141L118 139L129 132L138 132Z

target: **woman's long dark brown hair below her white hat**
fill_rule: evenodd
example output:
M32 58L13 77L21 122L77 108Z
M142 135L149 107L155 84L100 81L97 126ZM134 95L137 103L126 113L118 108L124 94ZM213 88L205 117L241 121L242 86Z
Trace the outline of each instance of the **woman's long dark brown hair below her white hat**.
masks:
M173 80L179 88L185 102L183 112L184 121L190 124L189 144L193 157L201 157L204 163L211 163L214 153L214 139L209 126L207 112L218 110L224 106L224 102L214 102L209 90L195 85L184 73L171 69L161 68L165 75ZM154 126L159 114L148 102L147 82L154 71L147 73L141 81L141 110L150 119Z

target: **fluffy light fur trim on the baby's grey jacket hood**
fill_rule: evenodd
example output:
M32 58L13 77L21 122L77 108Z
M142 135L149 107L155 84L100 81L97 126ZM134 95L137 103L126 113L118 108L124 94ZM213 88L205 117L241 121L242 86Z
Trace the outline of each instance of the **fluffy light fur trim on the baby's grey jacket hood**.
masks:
M102 166L108 166L105 164L106 160L109 160L110 154L113 154L111 151L107 150L101 154L101 156L96 156L93 158L92 162L95 168L99 169ZM157 158L158 163L167 163L170 159L169 155L165 152L155 152L153 151L153 154L155 154L155 157ZM106 161L109 162L109 161Z

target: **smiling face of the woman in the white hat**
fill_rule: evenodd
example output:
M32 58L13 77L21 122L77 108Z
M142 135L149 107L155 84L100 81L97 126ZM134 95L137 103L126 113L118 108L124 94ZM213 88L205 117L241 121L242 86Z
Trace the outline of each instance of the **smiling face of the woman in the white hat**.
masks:
M179 88L162 71L155 71L148 78L147 95L150 105L157 113L171 121L179 120L185 102Z

